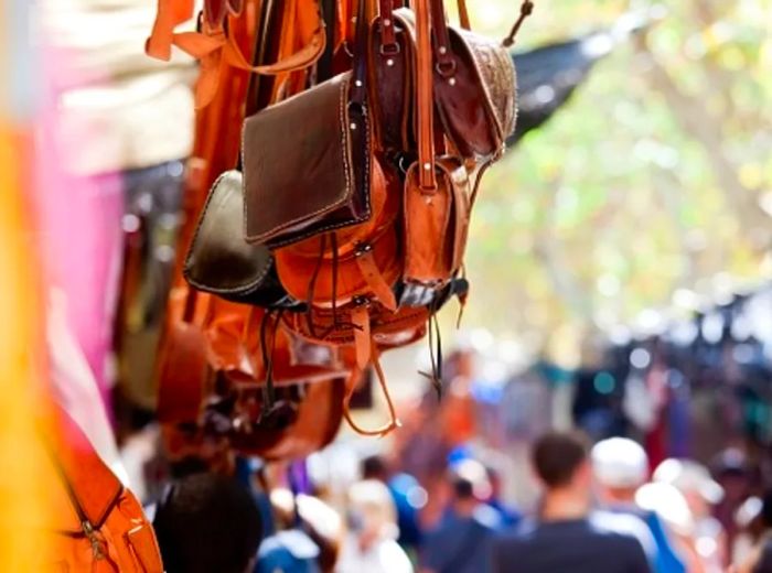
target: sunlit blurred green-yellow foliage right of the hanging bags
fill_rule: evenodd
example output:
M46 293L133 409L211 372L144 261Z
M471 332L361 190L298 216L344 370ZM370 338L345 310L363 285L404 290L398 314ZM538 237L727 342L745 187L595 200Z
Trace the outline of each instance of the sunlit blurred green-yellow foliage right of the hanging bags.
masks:
M469 6L473 25L496 36L519 11L516 0ZM599 63L489 171L467 256L467 325L542 346L559 325L631 324L677 289L711 294L719 273L769 275L772 2L663 6L663 20ZM650 4L537 0L518 47L641 8Z

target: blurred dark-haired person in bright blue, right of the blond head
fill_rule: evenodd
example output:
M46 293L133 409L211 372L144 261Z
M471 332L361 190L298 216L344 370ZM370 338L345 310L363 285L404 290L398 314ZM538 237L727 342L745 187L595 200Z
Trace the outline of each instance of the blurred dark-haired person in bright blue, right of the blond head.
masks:
M377 479L388 487L397 509L399 544L406 551L417 551L422 532L418 511L425 502L426 490L409 474L393 474L383 456L372 455L362 461L362 479Z

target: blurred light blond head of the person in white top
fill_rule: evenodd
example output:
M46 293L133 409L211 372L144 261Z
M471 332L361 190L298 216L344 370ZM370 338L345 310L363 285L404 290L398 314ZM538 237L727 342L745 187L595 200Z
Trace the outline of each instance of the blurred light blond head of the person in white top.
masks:
M376 479L357 482L349 489L349 526L362 540L396 539L397 510L388 488Z

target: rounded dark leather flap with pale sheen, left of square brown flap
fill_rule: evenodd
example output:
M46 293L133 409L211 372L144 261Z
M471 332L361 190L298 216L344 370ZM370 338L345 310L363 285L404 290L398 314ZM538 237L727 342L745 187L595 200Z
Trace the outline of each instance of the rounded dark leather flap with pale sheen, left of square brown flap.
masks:
M183 274L193 286L237 295L255 290L268 277L271 253L244 240L243 216L242 173L226 171L212 185L185 258Z

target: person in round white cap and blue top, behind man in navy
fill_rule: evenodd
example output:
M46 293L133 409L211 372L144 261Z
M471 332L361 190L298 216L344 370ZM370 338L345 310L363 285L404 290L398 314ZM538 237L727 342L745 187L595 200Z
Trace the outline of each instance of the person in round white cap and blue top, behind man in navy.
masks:
M615 513L635 516L648 527L656 544L656 573L685 573L686 564L676 549L676 541L655 511L635 502L635 494L648 477L648 457L643 447L626 437L598 442L591 453L592 472L601 508Z

